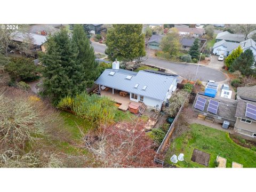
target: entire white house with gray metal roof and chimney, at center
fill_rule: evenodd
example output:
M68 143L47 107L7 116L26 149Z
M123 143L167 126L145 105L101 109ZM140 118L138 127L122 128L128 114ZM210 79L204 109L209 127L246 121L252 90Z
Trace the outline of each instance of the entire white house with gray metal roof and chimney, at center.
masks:
M151 70L140 70L138 73L119 69L119 61L112 63L112 69L105 69L95 84L124 91L130 101L143 102L148 107L161 110L163 102L169 99L177 87L178 75Z

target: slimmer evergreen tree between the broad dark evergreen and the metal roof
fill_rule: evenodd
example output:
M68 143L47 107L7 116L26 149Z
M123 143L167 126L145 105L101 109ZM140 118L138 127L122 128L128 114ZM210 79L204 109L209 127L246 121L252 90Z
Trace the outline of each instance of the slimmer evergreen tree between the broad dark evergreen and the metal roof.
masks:
M74 25L72 42L78 54L76 62L82 66L83 79L87 82L87 87L92 86L99 76L98 62L95 61L94 50L82 25Z

